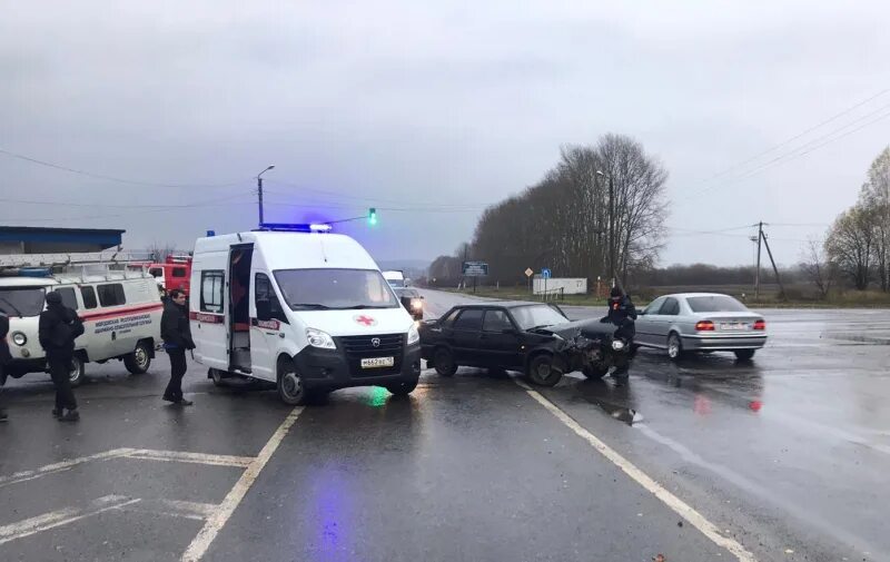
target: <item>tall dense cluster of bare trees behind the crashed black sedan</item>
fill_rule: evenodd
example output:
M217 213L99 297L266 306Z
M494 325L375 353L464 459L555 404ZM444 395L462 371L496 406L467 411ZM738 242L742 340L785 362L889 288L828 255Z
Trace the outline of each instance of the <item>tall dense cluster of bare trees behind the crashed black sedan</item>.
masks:
M452 283L464 259L478 259L488 263L488 283L517 283L543 267L561 277L614 273L626 283L657 262L666 180L662 164L626 136L564 147L541 181L485 209L473 240L433 263L431 282Z

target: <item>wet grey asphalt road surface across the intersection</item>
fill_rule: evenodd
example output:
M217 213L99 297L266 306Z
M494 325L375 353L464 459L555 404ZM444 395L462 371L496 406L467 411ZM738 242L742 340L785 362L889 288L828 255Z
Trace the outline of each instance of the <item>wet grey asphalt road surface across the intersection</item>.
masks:
M426 297L432 314L461 298ZM642 351L626 386L567 376L541 394L756 560L890 559L890 313L765 316L770 344L753 363ZM50 417L47 377L10 384L0 560L182 556L291 408L273 392L216 388L194 364L196 406L167 406L164 359L136 377L90 365L76 425ZM426 372L409 400L362 388L305 408L204 559L659 553L735 559L513 378L462 369Z

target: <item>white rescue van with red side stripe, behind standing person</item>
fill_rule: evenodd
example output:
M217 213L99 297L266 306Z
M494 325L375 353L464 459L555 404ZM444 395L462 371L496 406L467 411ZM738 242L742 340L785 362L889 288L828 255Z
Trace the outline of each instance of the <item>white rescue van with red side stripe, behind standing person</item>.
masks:
M52 273L51 268L7 269L0 276L0 310L9 316L7 374L19 378L46 373L47 362L38 339L40 313L48 292L83 321L83 335L75 341L71 385L83 381L85 364L120 359L127 371L148 371L160 344L164 305L155 278L144 272L105 272L100 275Z

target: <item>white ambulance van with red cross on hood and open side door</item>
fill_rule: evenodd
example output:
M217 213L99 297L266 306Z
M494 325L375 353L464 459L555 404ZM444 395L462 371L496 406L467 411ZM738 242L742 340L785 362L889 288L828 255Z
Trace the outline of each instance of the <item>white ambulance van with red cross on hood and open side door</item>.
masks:
M287 404L348 386L406 395L417 328L377 264L348 236L257 230L199 238L190 299L195 359L277 385Z

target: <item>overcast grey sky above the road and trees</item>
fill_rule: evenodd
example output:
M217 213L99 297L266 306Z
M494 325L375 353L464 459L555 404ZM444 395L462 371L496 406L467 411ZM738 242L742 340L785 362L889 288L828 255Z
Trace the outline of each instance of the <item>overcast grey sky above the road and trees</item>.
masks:
M748 264L744 229L681 229L828 224L890 144L890 117L872 122L888 91L708 181L890 88L886 1L0 0L0 148L226 185L135 186L0 154L0 198L83 205L0 201L0 224L126 228L131 248L254 227L251 177L275 164L268 220L375 206L378 227L346 231L378 259L432 259L561 145L612 131L671 172L664 264ZM770 231L793 263L823 227Z

